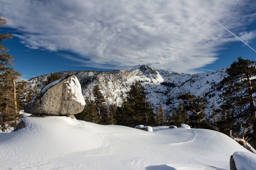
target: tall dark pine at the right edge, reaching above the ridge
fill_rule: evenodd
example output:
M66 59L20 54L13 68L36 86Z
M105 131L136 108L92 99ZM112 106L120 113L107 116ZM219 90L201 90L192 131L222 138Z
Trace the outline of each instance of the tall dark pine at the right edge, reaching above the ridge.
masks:
M253 124L252 141L256 141L256 106L253 96L256 92L256 82L252 81L256 76L256 68L251 65L250 60L239 57L226 72L228 76L222 80L226 85L225 92L220 95L223 99L222 112L225 113L225 117L229 114L233 120L234 125L230 125L231 129L240 127L241 123L245 123L245 126Z

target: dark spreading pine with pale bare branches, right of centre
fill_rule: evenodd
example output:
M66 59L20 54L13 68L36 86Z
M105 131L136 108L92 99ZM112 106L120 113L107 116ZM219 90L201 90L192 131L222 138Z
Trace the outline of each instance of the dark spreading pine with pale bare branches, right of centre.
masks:
M188 112L190 123L189 125L193 128L207 128L205 122L205 109L207 100L195 95L185 93L178 97L183 100L184 108Z

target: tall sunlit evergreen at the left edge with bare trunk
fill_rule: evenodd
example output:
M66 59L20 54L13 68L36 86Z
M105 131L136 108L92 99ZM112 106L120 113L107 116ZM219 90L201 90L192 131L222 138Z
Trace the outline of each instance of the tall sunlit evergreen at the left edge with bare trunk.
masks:
M0 16L0 26L4 26L7 22L6 19ZM0 34L0 42L6 39L12 39L12 35L9 33ZM14 65L13 56L7 54L8 51L9 49L0 44L0 129L2 131L18 124L19 102L17 102L17 89L24 88L24 86L21 86L24 82L19 83L17 81L21 74L11 68Z

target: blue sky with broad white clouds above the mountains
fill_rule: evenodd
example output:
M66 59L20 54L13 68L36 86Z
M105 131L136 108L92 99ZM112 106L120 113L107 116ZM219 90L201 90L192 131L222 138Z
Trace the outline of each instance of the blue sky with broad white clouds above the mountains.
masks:
M211 72L239 56L256 60L253 2L2 0L0 15L9 23L1 33L14 35L3 44L24 79L68 70L130 70L138 64Z

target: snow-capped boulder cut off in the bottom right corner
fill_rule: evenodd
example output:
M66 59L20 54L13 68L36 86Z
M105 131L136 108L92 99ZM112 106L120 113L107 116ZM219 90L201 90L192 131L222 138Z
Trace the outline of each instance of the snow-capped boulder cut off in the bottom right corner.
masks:
M256 169L256 154L252 152L234 152L233 156L231 156L230 161L234 160L235 165L230 164L233 169L237 170L252 170ZM234 167L235 166L235 167Z

